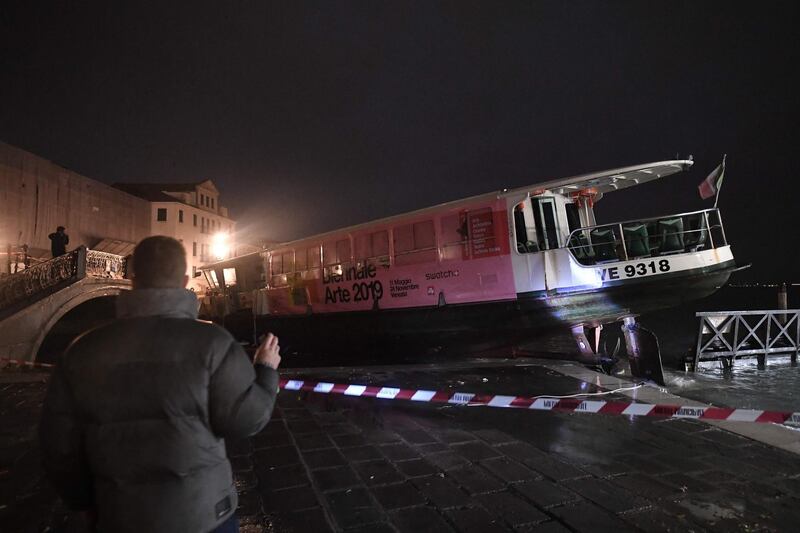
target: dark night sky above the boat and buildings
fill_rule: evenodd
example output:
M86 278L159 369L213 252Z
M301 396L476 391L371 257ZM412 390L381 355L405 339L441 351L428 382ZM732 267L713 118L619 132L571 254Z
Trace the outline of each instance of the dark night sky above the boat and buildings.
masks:
M599 218L699 209L727 153L740 279L800 281L792 2L1 6L0 139L107 183L211 178L253 234L676 154Z

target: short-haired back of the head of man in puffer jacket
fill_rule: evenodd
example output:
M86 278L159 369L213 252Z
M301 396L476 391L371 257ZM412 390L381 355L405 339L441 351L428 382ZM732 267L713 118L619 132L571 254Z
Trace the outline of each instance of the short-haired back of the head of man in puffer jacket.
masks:
M138 289L183 287L186 250L172 237L147 237L133 250L133 277Z

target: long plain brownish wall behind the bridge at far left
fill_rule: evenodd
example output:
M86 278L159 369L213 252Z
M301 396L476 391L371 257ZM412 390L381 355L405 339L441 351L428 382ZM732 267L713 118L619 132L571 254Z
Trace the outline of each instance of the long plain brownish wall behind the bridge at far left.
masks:
M49 255L56 226L67 228L69 250L104 238L136 243L150 234L150 213L146 200L0 142L2 251L27 244Z

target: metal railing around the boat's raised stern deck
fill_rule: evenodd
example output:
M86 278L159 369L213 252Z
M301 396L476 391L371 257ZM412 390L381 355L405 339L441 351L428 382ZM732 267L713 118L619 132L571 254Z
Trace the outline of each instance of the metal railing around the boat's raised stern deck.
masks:
M582 265L628 261L727 246L719 209L578 228L567 248Z

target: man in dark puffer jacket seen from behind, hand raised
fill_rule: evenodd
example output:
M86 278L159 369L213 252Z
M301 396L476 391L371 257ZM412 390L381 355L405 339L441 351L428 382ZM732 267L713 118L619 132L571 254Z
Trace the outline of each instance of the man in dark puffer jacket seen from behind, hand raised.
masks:
M269 421L277 337L259 346L254 366L227 331L198 321L175 239L144 239L132 266L117 320L76 339L50 379L45 469L102 532L236 531L224 439Z

